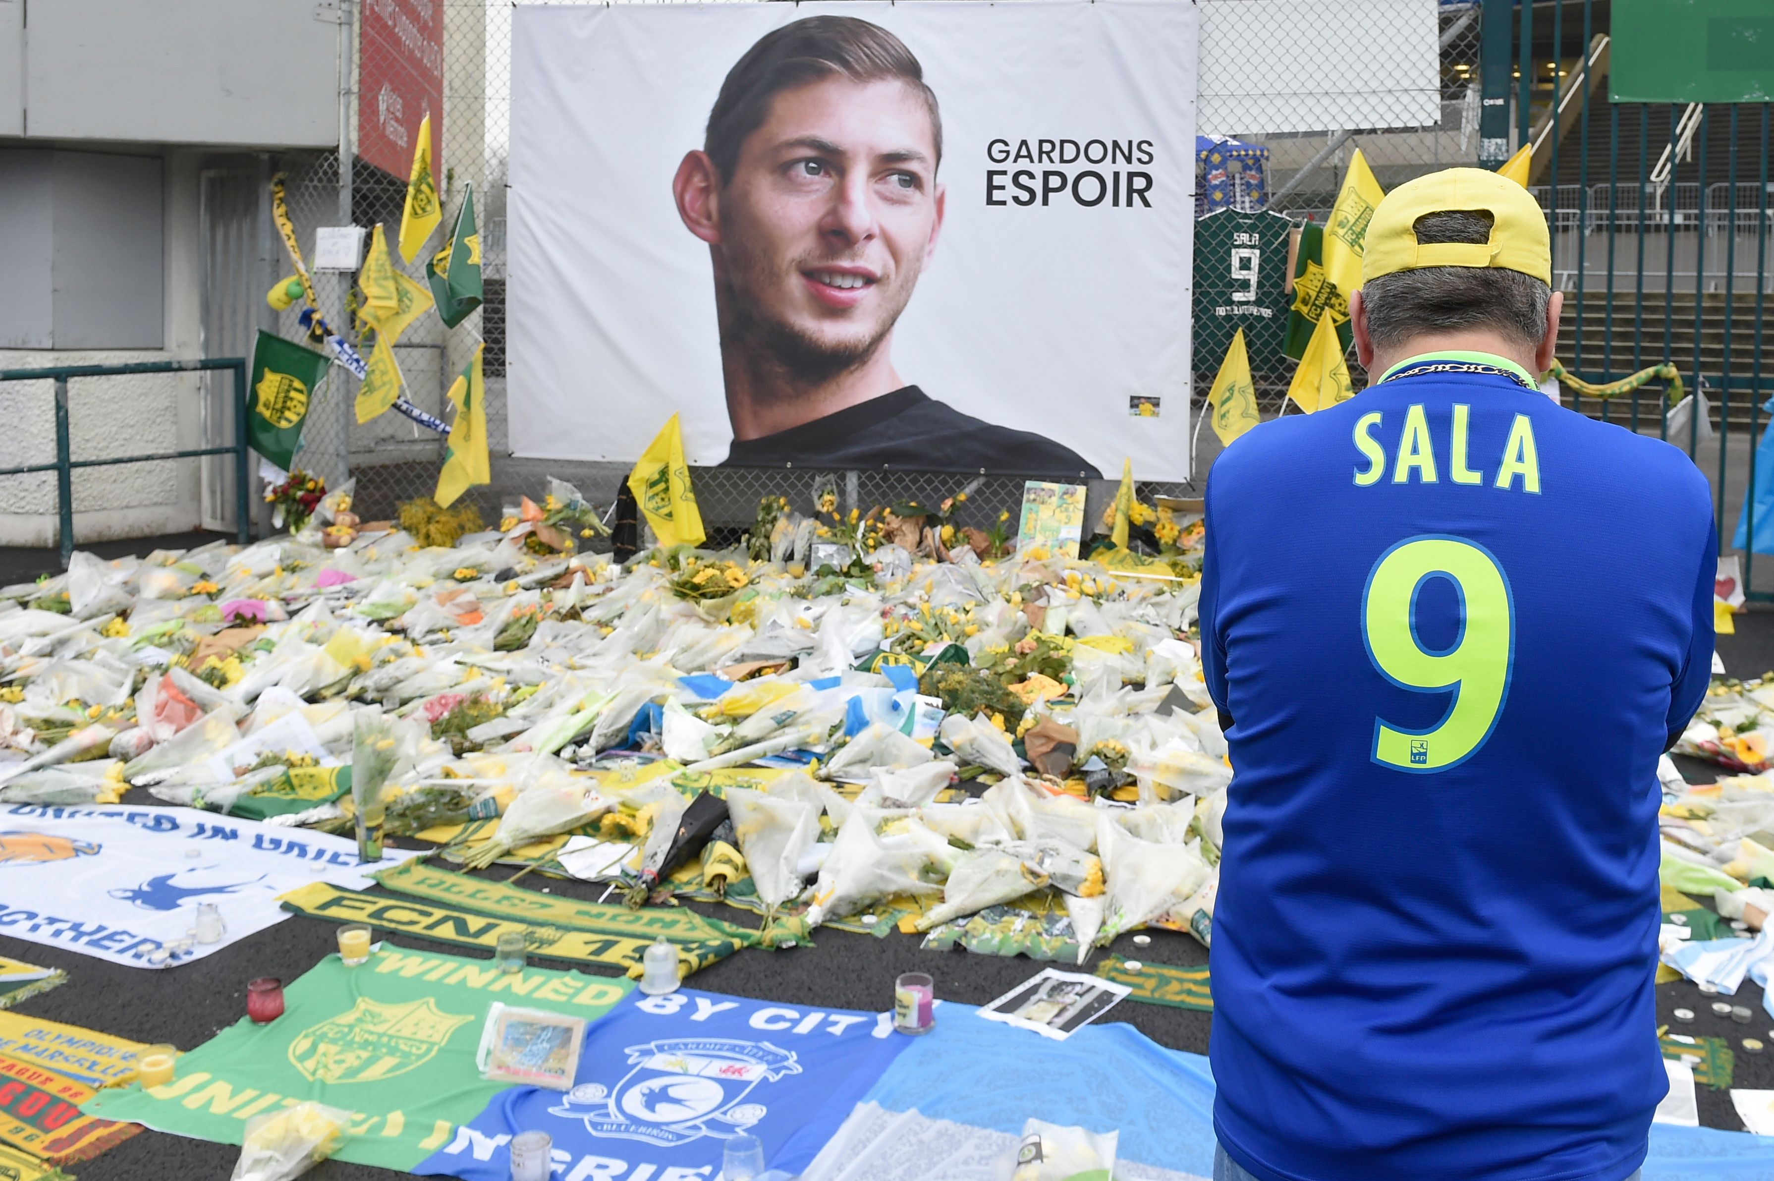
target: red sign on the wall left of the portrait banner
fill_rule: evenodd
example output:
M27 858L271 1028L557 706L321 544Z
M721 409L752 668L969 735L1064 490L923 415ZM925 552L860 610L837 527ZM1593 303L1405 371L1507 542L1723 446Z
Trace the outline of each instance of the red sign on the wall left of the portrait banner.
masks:
M444 0L364 0L357 154L403 181L419 121L431 115L431 168L444 144Z

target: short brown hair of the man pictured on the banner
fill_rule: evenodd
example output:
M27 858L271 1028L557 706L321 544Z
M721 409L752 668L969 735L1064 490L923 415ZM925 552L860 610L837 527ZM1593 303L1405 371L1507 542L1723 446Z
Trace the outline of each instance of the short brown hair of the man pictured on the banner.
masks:
M924 85L924 67L905 43L880 25L855 16L809 16L759 37L720 83L720 96L708 112L708 133L703 138L703 151L715 161L720 179L733 179L745 137L765 124L770 101L777 94L825 78L850 82L898 78L919 90L930 108L937 163L942 161L942 113L937 110L937 96Z

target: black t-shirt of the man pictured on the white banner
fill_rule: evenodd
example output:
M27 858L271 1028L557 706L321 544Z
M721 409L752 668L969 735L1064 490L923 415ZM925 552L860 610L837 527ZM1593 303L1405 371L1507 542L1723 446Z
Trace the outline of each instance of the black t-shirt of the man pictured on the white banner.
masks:
M1102 479L1070 447L981 422L915 385L763 438L733 440L724 468L896 468Z

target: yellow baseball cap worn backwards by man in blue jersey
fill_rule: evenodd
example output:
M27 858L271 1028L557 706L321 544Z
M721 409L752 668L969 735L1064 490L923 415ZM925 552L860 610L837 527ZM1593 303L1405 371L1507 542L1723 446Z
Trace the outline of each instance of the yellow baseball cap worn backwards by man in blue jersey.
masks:
M1488 213L1490 241L1419 245L1417 218L1448 211ZM1442 168L1407 181L1373 211L1361 280L1425 266L1501 266L1552 285L1547 216L1526 188L1485 168Z

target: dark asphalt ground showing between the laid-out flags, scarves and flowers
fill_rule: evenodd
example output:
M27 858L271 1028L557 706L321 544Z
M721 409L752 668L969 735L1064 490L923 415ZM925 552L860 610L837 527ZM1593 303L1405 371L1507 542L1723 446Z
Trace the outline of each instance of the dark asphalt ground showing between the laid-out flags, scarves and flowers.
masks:
M184 541L184 544L197 543L197 539ZM115 544L119 553L144 551L140 543L135 543L133 548L122 548L124 543ZM25 559L14 564L9 560L12 553L0 551L0 576L9 576L9 580L16 580L28 564ZM106 553L106 557L112 555ZM50 564L44 569L51 569L53 562L55 559L50 555ZM1774 612L1739 615L1737 635L1719 637L1717 647L1733 676L1758 676L1774 669ZM1712 764L1692 759L1678 759L1678 764L1689 782L1717 778L1717 768ZM126 802L158 803L140 789L131 791ZM415 842L394 844L422 848ZM488 871L488 876L506 878L511 872L507 867L495 867ZM530 876L525 885L539 887L541 883ZM548 880L548 887L557 896L593 901L603 894L603 887L578 881ZM381 888L376 887L376 892ZM695 904L694 908L729 922L747 926L756 922L726 906ZM83 1025L140 1043L172 1043L181 1050L192 1050L245 1014L248 979L275 975L286 982L294 981L335 949L337 929L330 922L291 915L213 956L160 972L126 968L7 936L0 936L0 954L67 972L66 984L25 1000L18 1005L18 1013ZM1178 966L1208 963L1206 949L1187 935L1157 929L1148 935L1151 943L1144 947L1135 947L1132 936L1119 938L1107 952L1093 956L1084 970L1091 970L1109 952ZM777 1000L789 1005L878 1013L891 1007L892 981L901 972L928 972L935 977L937 995L944 1000L988 1004L1045 966L1024 958L976 956L958 949L926 952L919 949L919 938L899 933L878 938L821 929L816 933L814 947L745 949L704 968L688 982L701 989ZM463 949L456 945L419 938L392 936L387 942L392 947L420 952L463 954ZM600 972L596 966L546 958L536 958L536 963L553 968L573 966L587 974ZM1687 981L1662 984L1657 988L1657 1020L1660 1025L1669 1025L1671 1032L1726 1039L1735 1052L1733 1085L1774 1089L1774 1018L1762 1007L1762 989L1746 981L1737 997L1731 998L1733 1004L1749 1005L1754 1011L1756 1016L1749 1025L1737 1025L1730 1018L1715 1016L1710 1009L1712 1000L1715 997L1703 997ZM1671 1014L1676 1007L1692 1009L1694 1021L1675 1023ZM1103 1020L1126 1021L1153 1041L1174 1050L1194 1053L1208 1050L1212 1016L1206 1013L1125 1000ZM1747 1053L1742 1050L1744 1037L1758 1037L1769 1048L1756 1055ZM1570 1068L1582 1069L1582 1064L1574 1062ZM1006 1069L1015 1069L1015 1064L1008 1062ZM1726 1091L1699 1085L1698 1099L1701 1124L1731 1131L1742 1130ZM926 1114L940 1115L940 1112ZM239 1149L234 1146L144 1131L103 1156L75 1165L69 1172L80 1181L222 1179L231 1176L238 1156ZM365 1165L323 1161L305 1176L314 1177L314 1181L371 1181L401 1174Z

